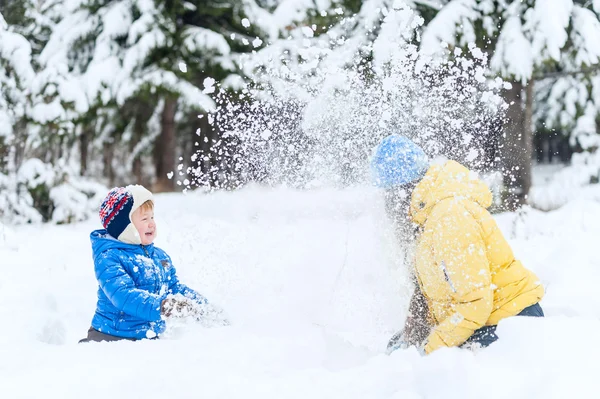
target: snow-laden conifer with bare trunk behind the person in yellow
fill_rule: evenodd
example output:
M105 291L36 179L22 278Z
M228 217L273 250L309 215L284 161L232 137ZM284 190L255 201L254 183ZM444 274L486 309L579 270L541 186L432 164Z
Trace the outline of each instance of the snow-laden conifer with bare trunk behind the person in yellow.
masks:
M448 54L442 43L450 49L476 43L490 54L492 73L511 81L500 144L509 203L524 203L531 186L534 82L548 73L568 75L598 63L598 7L598 2L573 0L451 0L423 33L422 48L430 53ZM555 93L565 87L564 81L555 83ZM548 91L548 85L544 88Z

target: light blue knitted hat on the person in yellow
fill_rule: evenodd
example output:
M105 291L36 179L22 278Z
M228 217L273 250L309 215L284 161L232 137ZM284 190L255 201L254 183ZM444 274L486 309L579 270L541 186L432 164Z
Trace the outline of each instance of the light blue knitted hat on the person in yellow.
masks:
M404 136L392 134L377 146L371 159L374 183L391 188L422 178L429 169L425 152Z

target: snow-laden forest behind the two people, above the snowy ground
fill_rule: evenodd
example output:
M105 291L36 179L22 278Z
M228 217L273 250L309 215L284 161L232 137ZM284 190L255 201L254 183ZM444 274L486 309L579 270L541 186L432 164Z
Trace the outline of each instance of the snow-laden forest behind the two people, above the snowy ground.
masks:
M0 220L347 187L393 132L549 210L600 176L600 0L0 0ZM532 165L564 164L544 188Z

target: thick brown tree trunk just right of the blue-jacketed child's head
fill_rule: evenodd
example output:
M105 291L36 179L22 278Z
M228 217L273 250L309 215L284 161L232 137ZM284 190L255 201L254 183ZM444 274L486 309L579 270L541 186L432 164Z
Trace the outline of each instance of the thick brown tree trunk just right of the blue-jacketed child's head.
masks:
M155 192L175 190L177 171L175 170L175 112L177 97L167 96L161 117L161 132L154 147L156 165ZM169 176L171 178L169 179Z

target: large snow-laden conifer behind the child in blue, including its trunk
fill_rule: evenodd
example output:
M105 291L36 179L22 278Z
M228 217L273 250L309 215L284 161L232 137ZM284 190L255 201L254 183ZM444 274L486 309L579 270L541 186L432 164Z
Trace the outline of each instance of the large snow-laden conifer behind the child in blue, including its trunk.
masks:
M189 143L200 141L198 114L214 108L210 94L216 85L236 86L236 54L256 43L257 31L244 13L260 8L246 3L66 3L40 56L36 81L38 92L52 99L52 106L39 107L54 113L35 116L71 129L84 169L93 167L89 157L101 154L104 165L97 170L110 181L133 173L158 190L172 189L178 145L191 154ZM190 133L177 134L183 129Z

